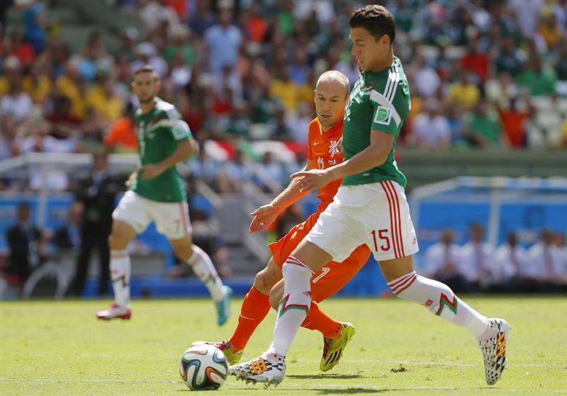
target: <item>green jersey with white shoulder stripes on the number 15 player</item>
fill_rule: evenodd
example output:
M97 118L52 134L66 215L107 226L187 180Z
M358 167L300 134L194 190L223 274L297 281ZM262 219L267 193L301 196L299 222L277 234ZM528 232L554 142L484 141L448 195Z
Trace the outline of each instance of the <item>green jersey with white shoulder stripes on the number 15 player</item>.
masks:
M392 180L405 187L407 180L394 159L395 142L405 118L410 113L410 86L400 60L380 72L362 72L351 91L344 113L342 147L344 160L354 157L370 145L370 131L381 130L394 136L386 162L380 166L347 176L344 186Z

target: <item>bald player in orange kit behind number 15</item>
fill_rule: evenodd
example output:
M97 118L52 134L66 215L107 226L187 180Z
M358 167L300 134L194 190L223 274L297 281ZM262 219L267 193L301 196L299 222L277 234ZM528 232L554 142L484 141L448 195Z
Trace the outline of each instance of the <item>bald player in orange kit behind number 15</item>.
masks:
M308 163L304 169L326 169L342 162L343 154L340 149L344 105L349 97L349 79L341 72L331 70L321 74L315 86L315 111L317 118L309 125L308 132ZM283 280L281 266L289 254L307 235L317 222L320 213L332 202L341 180L332 181L320 188L317 211L307 220L293 227L288 234L278 242L269 245L271 258L268 265L257 273L254 285L247 293L240 308L240 317L234 334L228 341L215 342L225 353L230 364L240 361L250 337L268 314L270 305L277 310L277 305L283 297ZM250 232L262 232L289 206L296 203L307 194L299 191L296 181L289 186L271 203L263 205L250 215L254 216L250 224ZM347 322L337 322L320 309L316 302L321 302L334 295L359 272L366 264L370 250L362 245L341 262L330 261L311 277L311 302L308 315L301 326L318 330L323 335L323 353L320 369L327 371L339 363L345 347L354 336L354 327ZM200 344L197 341L193 345Z

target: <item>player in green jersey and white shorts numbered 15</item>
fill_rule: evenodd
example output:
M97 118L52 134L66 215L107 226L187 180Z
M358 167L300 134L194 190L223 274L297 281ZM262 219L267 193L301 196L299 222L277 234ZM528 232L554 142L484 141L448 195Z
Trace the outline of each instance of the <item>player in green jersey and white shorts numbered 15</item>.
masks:
M366 244L394 295L427 307L478 339L485 379L496 383L505 368L508 324L481 315L447 285L419 276L413 268L417 239L405 199L405 176L394 159L395 142L410 111L410 88L400 60L393 55L393 17L383 6L369 5L354 11L349 25L352 55L361 75L344 115L345 161L292 175L302 191L341 178L342 186L283 264L284 291L274 341L262 356L231 366L229 372L254 382L283 380L286 353L310 307L311 276L328 261L342 261Z

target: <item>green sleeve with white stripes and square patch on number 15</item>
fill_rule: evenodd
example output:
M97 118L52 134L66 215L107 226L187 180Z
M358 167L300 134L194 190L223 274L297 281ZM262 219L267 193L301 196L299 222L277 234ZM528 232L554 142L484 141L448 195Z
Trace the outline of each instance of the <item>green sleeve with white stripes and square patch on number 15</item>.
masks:
M371 91L370 101L373 107L372 129L398 136L402 126L402 120L408 114L403 98L395 98L396 91L401 94L401 89L395 87L391 92L386 91L381 94L378 91ZM389 93L388 93L389 92Z

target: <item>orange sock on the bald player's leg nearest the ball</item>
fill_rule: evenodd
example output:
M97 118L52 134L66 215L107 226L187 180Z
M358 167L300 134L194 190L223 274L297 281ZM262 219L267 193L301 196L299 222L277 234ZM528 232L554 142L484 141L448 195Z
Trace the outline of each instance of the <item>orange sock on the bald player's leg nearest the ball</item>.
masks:
M246 294L242 307L240 307L240 316L238 317L238 325L234 334L230 337L230 344L239 351L245 349L248 340L254 334L258 324L264 320L270 310L269 296L258 291L257 288L250 288Z

